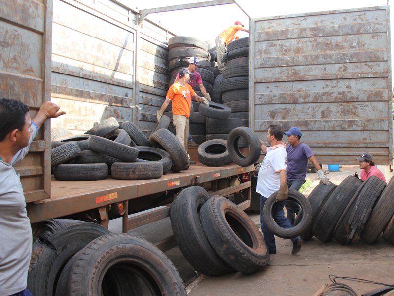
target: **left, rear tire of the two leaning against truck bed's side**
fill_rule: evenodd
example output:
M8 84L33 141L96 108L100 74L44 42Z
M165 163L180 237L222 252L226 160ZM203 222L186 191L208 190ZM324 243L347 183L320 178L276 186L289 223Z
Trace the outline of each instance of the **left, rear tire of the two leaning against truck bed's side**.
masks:
M218 276L233 269L215 253L201 228L198 213L210 197L199 186L182 190L171 204L170 219L175 239L186 260L198 272Z

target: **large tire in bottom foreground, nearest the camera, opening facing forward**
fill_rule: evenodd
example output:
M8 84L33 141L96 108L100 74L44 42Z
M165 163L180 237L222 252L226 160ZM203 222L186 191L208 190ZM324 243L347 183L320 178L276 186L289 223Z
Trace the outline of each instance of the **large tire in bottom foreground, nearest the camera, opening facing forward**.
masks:
M100 296L103 278L111 271L140 278L152 295L187 295L170 259L148 241L125 233L103 235L79 251L64 268L56 295ZM119 284L121 289L132 289L128 280L119 281ZM109 295L125 295L108 292L113 293Z

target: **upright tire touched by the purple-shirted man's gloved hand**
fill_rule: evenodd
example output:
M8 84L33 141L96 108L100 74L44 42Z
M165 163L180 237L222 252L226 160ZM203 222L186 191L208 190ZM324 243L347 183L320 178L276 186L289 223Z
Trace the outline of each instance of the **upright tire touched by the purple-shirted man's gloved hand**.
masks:
M334 192L337 185L331 183L330 185L325 185L324 183L320 183L312 190L312 192L308 196L308 201L312 208L312 220L309 227L301 234L301 238L305 241L310 240L313 237L312 228L315 223L316 218L318 218L320 211L322 210L324 204L327 199L331 196L332 192ZM298 225L302 219L302 209L298 213L297 218L295 219L294 225Z

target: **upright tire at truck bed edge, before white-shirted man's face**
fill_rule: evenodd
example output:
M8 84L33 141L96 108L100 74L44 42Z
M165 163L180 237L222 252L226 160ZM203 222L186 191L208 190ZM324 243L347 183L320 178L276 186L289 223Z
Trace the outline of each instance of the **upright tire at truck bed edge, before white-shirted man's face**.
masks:
M244 137L249 144L249 155L244 156L238 146L238 140ZM257 135L248 127L237 127L233 129L227 138L227 149L231 159L239 166L249 166L260 158L260 141Z

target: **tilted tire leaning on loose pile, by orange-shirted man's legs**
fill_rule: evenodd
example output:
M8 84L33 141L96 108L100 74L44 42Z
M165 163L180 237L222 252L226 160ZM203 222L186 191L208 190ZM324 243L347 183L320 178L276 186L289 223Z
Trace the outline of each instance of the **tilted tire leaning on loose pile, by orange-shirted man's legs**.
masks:
M186 150L179 143L177 137L175 137L169 130L160 129L149 138L150 144L162 150L166 150L174 165L171 170L174 173L178 173L189 168L189 158L187 157Z

